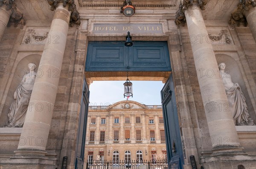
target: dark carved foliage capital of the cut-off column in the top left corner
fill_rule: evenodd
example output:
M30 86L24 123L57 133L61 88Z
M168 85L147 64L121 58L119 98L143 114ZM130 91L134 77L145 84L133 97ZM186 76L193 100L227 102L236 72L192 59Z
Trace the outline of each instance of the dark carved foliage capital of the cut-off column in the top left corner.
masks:
M6 10L12 10L11 20L9 23L14 23L14 27L16 28L20 23L20 29L23 29L23 26L26 25L26 18L23 13L16 7L15 0L0 0L0 7L6 6Z

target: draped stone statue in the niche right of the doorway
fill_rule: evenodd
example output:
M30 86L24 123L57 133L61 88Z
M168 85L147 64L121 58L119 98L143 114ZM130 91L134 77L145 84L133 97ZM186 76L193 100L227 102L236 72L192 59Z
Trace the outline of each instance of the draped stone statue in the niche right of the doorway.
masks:
M236 126L253 126L253 119L250 118L244 94L238 83L233 83L229 73L225 73L225 63L218 64L222 82L226 90L227 99L230 105L234 123Z

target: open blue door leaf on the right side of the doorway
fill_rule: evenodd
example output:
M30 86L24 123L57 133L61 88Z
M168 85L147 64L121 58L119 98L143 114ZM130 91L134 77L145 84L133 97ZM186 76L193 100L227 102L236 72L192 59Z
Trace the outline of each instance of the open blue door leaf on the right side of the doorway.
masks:
M184 159L172 74L161 90L169 169L183 169Z

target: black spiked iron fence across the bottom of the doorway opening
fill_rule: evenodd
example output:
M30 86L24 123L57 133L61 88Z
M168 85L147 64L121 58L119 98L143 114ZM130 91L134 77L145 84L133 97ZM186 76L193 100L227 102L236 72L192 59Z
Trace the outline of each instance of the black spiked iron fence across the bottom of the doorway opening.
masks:
M167 161L87 161L86 169L168 169Z

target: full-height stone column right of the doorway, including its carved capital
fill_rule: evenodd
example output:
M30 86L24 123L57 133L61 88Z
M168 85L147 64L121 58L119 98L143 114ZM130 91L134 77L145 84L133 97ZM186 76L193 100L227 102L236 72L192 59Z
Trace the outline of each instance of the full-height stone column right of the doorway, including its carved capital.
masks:
M189 36L197 39L191 46L212 140L212 156L244 155L246 153L240 147L232 113L223 108L228 105L228 100L212 45L207 43L208 33L200 11L204 10L206 3L207 0L184 0L176 13L175 23L186 22Z

